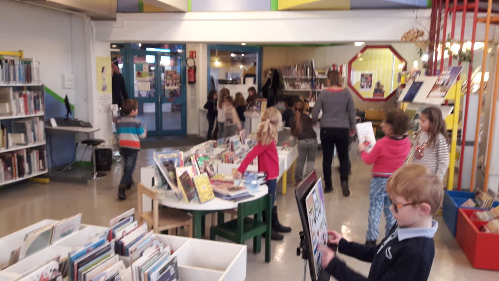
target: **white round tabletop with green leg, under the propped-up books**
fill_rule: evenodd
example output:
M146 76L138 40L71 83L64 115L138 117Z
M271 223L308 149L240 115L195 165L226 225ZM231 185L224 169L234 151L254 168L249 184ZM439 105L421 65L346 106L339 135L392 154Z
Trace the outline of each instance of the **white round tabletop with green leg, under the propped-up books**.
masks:
M194 238L201 238L202 232L205 229L204 219L202 216L208 213L214 213L222 210L235 209L238 207L239 203L250 202L256 199L259 199L265 196L268 193L268 187L266 184L260 185L260 191L253 193L253 197L248 199L244 199L238 202L233 202L229 200L224 200L219 197L215 197L214 199L200 203L198 199L193 199L190 203L186 203L184 198L180 200L177 199L174 192L172 190L168 190L165 194L165 198L160 199L159 203L163 206L167 206L170 208L183 209L192 212L193 214L193 236ZM219 215L220 217L220 215Z

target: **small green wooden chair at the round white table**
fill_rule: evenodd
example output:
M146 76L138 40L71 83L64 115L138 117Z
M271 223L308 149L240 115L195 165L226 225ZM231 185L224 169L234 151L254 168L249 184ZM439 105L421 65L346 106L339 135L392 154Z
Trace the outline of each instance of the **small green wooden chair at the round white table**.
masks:
M270 195L265 195L259 199L240 203L238 205L238 217L236 219L223 222L224 212L218 215L218 225L210 228L210 239L215 240L216 235L220 235L238 244L253 238L253 252L261 251L261 235L265 234L265 262L270 262ZM261 212L269 219L263 222ZM253 218L247 217L253 215Z

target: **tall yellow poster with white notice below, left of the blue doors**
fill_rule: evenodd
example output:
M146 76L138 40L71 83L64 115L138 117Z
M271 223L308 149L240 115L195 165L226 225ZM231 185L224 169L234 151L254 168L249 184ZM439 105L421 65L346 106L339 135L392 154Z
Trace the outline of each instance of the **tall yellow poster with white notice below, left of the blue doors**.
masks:
M97 70L97 110L99 112L109 112L113 103L112 84L111 84L111 57L95 57Z

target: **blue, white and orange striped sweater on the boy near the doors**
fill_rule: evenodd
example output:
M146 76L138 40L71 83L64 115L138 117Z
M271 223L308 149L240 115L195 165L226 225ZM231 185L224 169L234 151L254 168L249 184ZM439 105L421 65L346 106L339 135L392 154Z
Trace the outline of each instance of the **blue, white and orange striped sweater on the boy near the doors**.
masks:
M116 133L121 148L140 150L140 138L146 137L146 131L139 119L125 116L116 123Z

